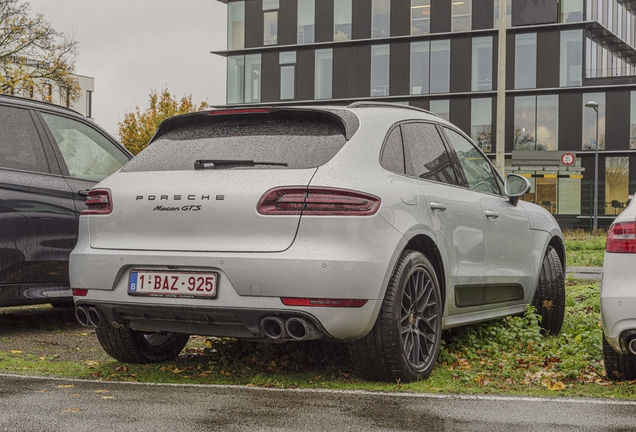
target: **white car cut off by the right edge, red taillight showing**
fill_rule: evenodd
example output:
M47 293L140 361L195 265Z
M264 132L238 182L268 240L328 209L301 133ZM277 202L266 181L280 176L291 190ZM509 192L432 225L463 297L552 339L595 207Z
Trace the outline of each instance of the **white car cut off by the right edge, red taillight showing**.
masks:
M612 380L636 379L636 205L631 204L607 231L601 279L603 360Z

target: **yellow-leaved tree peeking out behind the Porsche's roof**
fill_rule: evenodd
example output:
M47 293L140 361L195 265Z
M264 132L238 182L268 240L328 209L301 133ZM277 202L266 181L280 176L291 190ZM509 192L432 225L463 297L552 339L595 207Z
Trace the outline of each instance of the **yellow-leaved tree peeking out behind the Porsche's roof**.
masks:
M126 113L124 120L118 124L119 140L133 154L146 148L163 120L177 114L201 111L208 105L202 102L197 107L192 102L192 95L177 100L168 89L163 89L161 94L151 90L149 97L150 107L146 111L141 112L139 107L135 107L135 112Z

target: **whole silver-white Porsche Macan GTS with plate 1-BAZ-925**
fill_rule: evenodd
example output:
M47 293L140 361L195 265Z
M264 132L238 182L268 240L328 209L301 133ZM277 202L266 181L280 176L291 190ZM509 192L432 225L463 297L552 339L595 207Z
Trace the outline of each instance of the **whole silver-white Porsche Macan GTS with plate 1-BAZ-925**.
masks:
M368 379L427 377L442 329L534 304L558 333L565 247L459 129L417 108L173 117L91 190L76 314L125 362L190 334L349 342Z

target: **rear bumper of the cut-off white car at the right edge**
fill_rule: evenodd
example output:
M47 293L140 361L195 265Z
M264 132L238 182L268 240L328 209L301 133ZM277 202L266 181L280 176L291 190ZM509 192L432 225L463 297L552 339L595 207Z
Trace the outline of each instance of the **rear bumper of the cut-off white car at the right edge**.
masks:
M626 342L636 334L636 283L633 254L605 254L601 278L603 333L616 352L626 354Z

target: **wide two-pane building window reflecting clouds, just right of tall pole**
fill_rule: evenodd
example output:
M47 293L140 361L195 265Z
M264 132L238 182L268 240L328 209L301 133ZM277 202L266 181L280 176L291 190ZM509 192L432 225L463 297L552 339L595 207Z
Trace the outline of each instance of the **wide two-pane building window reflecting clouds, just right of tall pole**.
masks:
M514 149L558 150L559 96L515 98Z

